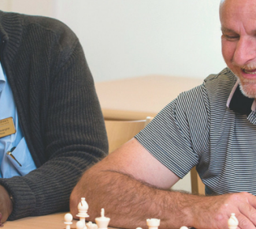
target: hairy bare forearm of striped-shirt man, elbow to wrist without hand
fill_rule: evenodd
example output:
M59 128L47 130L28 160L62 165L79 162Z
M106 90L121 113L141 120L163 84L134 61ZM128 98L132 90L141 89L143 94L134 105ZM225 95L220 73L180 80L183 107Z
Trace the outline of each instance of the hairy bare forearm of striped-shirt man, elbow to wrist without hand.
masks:
M119 172L102 171L95 178L87 171L72 192L73 215L81 197L85 197L89 205L88 220L95 220L104 208L113 227L145 227L148 218L161 219L161 228L191 224L187 208L191 195L150 187Z

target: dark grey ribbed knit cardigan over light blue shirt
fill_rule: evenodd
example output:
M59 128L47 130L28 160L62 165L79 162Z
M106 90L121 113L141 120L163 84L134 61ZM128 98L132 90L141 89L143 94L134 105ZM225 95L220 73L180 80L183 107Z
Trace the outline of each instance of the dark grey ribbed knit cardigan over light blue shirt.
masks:
M2 11L0 38L1 63L37 166L28 175L0 179L14 199L9 220L68 211L80 175L108 151L83 49L58 20Z

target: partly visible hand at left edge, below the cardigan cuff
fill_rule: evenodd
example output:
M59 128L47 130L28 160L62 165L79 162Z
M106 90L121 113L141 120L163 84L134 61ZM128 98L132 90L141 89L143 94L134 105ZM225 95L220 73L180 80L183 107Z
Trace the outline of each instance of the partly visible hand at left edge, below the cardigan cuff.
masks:
M9 215L13 212L13 202L9 198L7 190L2 186L0 186L0 212L2 214L1 223L6 222Z

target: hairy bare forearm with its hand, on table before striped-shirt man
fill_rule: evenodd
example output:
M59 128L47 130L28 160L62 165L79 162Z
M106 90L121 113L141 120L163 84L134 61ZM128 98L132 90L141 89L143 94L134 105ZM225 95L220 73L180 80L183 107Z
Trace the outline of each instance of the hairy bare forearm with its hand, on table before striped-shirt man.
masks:
M93 170L93 168L92 168ZM97 174L96 176L93 174ZM72 192L70 207L76 215L80 198L89 205L88 220L106 210L110 226L146 227L146 220L158 218L161 228L181 226L228 229L228 218L236 213L239 227L255 228L256 198L252 194L224 194L205 197L150 187L119 172L88 170Z

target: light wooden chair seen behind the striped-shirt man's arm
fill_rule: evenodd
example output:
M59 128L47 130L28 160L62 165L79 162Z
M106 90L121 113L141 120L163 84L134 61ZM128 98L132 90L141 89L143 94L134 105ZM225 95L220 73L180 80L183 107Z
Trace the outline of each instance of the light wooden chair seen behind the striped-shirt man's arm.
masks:
M152 120L147 117L146 120L105 120L106 132L109 139L109 153L117 150L125 142L131 140ZM191 193L204 194L205 187L195 168L191 169Z

